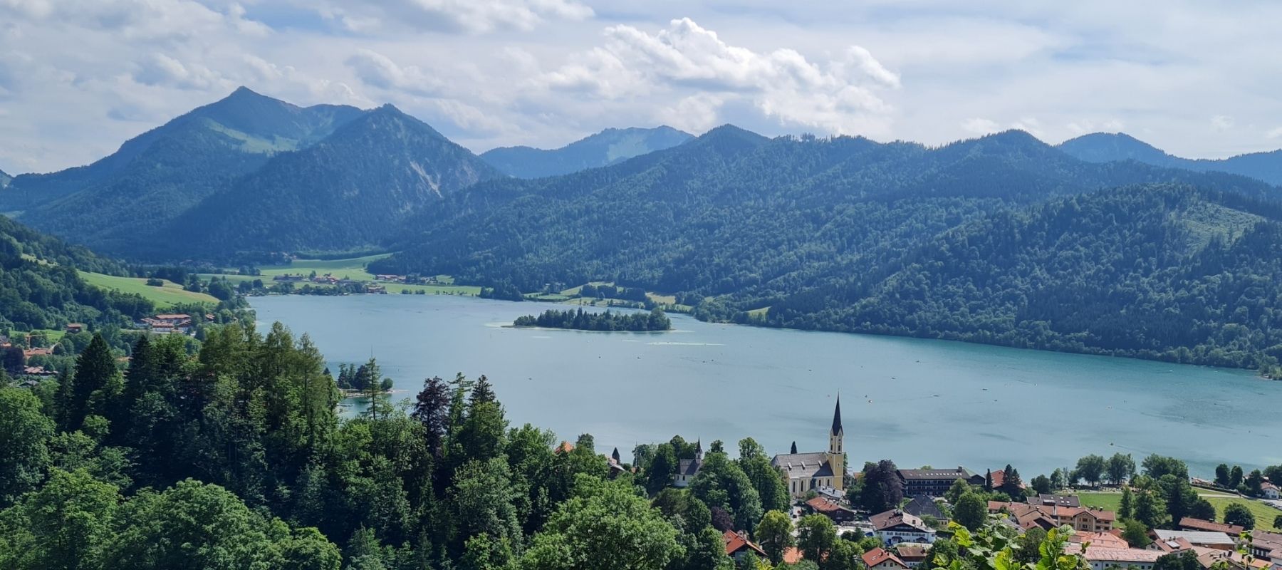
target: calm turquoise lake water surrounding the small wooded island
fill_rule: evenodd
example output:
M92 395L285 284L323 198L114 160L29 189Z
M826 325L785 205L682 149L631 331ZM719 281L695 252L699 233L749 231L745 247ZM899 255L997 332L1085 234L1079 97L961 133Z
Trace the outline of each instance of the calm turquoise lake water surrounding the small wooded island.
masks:
M508 329L544 303L449 295L253 298L259 327L310 334L331 368L378 358L412 398L424 377L485 374L513 425L637 443L753 436L770 453L822 451L842 395L854 466L1013 463L1024 479L1087 453L1282 463L1282 381L1250 371L979 344L714 325L673 332ZM351 408L347 408L351 410Z

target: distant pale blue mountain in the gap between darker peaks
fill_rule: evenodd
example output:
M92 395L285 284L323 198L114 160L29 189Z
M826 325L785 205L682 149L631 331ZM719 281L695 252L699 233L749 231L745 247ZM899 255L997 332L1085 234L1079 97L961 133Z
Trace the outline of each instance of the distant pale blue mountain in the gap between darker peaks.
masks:
M559 149L503 146L481 153L481 158L508 176L541 178L599 168L632 157L670 149L692 139L688 132L662 126L655 128L606 128Z

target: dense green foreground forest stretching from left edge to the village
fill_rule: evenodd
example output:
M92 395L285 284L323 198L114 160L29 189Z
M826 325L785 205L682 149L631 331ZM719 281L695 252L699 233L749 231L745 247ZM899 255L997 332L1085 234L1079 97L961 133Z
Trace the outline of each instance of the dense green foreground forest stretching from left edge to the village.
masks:
M178 336L132 353L122 372L95 336L74 374L0 388L0 567L859 570L877 546L823 515L794 526L751 438L735 460L713 442L676 489L695 444L637 445L635 466L588 434L558 444L509 426L485 376L431 377L413 401L340 420L324 358L279 324L213 329L195 356ZM879 496L865 479L859 493ZM727 530L767 556L736 566ZM945 567L1051 552L1046 570L1085 570L1059 557L1056 533L1018 544L985 520L949 530L932 549ZM794 546L804 560L782 562Z

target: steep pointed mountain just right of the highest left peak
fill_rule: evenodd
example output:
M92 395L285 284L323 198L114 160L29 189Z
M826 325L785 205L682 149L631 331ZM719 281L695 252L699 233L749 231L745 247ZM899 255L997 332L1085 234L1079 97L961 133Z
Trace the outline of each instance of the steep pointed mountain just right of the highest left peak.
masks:
M276 155L165 229L179 239L149 240L136 252L219 258L370 246L451 193L501 176L426 123L383 105L306 149Z

